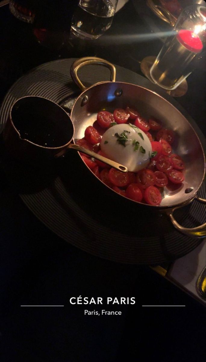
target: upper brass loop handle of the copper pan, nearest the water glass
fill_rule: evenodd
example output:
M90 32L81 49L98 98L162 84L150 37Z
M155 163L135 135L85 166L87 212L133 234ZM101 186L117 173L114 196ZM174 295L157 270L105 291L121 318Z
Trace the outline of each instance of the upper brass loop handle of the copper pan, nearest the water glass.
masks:
M81 80L79 79L79 77L77 75L77 71L81 67L83 67L87 64L101 64L102 66L109 68L110 72L111 72L110 80L111 80L111 82L115 82L116 68L112 63L107 62L107 60L105 60L105 59L96 58L95 56L85 56L84 58L75 60L75 62L72 64L71 69L70 69L70 74L71 74L73 81L78 85L78 87L82 90L82 92L84 90L86 90L87 87L85 87L82 84Z

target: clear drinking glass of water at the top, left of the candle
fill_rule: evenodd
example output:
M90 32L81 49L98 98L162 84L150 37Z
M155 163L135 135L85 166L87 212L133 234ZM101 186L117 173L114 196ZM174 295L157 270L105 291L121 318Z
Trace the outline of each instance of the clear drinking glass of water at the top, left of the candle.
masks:
M97 39L113 20L118 0L80 0L74 10L71 35L81 39Z

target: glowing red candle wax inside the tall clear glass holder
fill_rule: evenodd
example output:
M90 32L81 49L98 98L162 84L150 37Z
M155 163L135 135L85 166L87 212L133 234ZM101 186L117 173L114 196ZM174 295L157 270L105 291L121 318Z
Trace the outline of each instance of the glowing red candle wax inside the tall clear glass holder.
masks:
M186 49L199 53L202 51L203 44L198 35L190 30L180 30L177 34L177 40L182 44Z

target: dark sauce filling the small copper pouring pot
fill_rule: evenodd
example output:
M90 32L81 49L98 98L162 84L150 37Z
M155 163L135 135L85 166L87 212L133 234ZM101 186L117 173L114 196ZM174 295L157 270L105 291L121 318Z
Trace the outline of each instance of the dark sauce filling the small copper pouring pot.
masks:
M22 139L43 147L60 147L68 143L71 135L65 134L58 119L42 114L16 110L13 123Z

